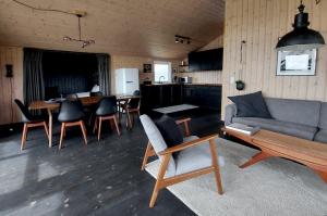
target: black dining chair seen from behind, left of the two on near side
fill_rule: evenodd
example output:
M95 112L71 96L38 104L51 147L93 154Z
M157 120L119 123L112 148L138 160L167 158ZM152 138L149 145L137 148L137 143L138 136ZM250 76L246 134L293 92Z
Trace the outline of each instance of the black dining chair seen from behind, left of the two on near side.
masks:
M84 142L87 144L86 127L84 124L85 114L83 112L83 105L80 100L63 101L60 106L58 120L61 123L60 143L59 149L62 148L62 140L65 137L65 128L72 126L80 126L83 132Z

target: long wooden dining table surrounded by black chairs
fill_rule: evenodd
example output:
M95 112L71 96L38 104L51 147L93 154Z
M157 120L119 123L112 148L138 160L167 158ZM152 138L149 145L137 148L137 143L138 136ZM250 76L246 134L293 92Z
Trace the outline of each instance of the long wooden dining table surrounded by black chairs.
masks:
M84 97L78 98L78 100L82 102L83 106L90 106L96 105L98 102L102 99L101 96L96 97ZM118 113L119 113L119 123L121 119L121 105L126 103L130 99L138 99L140 96L131 96L131 94L117 94L117 102L118 102ZM66 99L57 99L57 100L50 100L50 101L33 101L29 103L28 109L31 111L41 111L46 110L49 117L49 148L52 147L52 130L53 130L53 117L52 112L60 109L60 104L62 101Z

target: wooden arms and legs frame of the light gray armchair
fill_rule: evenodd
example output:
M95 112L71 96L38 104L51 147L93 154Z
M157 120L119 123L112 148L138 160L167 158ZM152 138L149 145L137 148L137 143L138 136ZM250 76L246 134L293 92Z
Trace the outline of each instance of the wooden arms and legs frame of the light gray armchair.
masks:
M191 120L191 118L177 120L177 124L179 124L179 125L183 124L184 125L185 136L190 136L190 129L189 129L189 122L190 120ZM185 181L185 180L191 179L191 178L195 178L195 177L198 177L198 176L202 176L202 175L209 174L209 173L214 173L214 175L215 175L218 193L219 194L223 193L222 185L221 185L221 178L220 178L220 168L219 168L219 164L218 164L218 160L217 160L216 142L215 142L215 140L217 138L218 138L218 135L211 135L211 136L207 136L207 137L204 137L204 138L199 138L199 139L196 139L196 140L189 141L189 142L184 142L184 143L181 143L181 144L175 145L173 148L168 148L165 151L159 152L158 155L154 151L154 149L152 147L152 143L150 142L147 143L145 155L144 155L143 163L142 163L142 168L141 168L142 170L144 170L144 168L147 164L148 157L155 156L155 155L162 156L162 162L161 162L160 167L159 167L156 185L155 185L152 198L150 198L149 207L154 207L154 205L156 203L156 200L157 200L157 196L158 196L158 193L161 189L164 189L166 187L169 187L169 186L172 186L172 185L175 185L175 183L179 183L179 182L182 182L182 181ZM204 143L207 143L207 142L209 142L209 145L210 145L211 162L213 162L211 166L201 168L201 169L197 169L197 170L194 170L194 171L177 175L177 176L173 176L173 177L165 178L165 174L166 174L166 170L168 168L169 160L172 156L172 153L185 150L185 149L191 148L191 147L204 144Z

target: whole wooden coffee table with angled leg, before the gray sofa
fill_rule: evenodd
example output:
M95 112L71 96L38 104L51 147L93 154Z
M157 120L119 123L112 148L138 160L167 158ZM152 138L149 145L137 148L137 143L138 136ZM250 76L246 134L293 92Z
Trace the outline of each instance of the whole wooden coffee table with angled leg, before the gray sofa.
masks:
M253 136L227 128L222 128L222 131L262 150L240 168L245 168L272 156L279 156L308 166L327 183L327 144L264 129Z

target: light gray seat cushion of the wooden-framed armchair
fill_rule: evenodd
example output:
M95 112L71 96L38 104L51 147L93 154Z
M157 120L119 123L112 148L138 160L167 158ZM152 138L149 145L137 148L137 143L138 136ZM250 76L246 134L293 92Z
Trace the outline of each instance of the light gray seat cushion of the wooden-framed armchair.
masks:
M191 136L184 138L184 142L196 140L198 137ZM209 143L195 145L185 150L182 150L175 160L175 174L185 174L196 169L211 166L211 153Z

